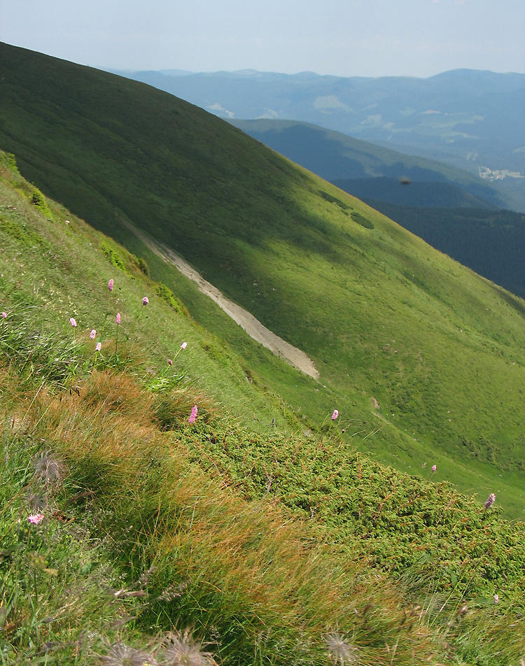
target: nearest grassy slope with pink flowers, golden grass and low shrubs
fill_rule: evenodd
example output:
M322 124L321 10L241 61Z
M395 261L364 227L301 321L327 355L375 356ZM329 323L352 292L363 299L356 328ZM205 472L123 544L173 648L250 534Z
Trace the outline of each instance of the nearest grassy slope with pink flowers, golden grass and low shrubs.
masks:
M3 154L0 220L3 663L100 664L120 642L161 658L174 628L224 666L325 665L330 637L346 664L521 655L521 526L381 468L337 425L314 439L229 416L242 395L266 416L274 403L134 257ZM186 381L162 389L172 371Z

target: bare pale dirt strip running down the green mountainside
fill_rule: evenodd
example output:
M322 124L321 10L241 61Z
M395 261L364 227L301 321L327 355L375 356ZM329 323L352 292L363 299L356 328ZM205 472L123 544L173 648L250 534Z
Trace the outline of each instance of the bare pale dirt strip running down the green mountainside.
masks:
M263 326L258 319L249 313L241 306L237 305L226 298L214 285L204 280L204 278L193 269L190 264L185 262L179 255L174 253L171 248L168 248L164 243L154 241L146 234L142 233L129 222L120 220L123 224L130 229L152 252L158 255L162 260L169 264L173 264L176 269L181 271L183 275L197 284L199 290L209 296L213 301L218 304L225 313L232 318L239 326L241 326L246 333L254 340L262 344L262 346L269 349L276 356L281 357L293 367L304 372L304 374L318 379L319 373L314 365L314 362L300 349L290 345L278 335L272 333L269 329Z

